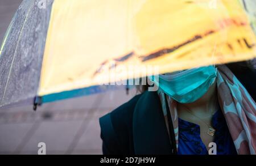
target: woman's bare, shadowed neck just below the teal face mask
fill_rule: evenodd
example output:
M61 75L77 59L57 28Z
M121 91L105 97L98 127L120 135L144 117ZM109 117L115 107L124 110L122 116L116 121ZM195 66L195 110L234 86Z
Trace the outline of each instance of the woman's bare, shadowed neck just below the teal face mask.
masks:
M210 86L207 93L202 96L200 99L194 101L193 103L183 104L185 107L189 108L192 112L205 112L205 113L213 113L214 108L217 105L217 85L216 81Z

